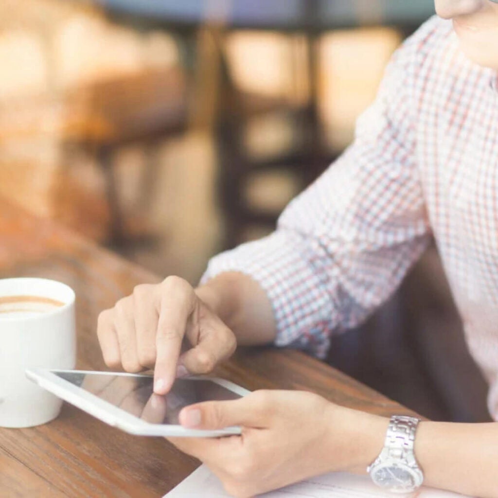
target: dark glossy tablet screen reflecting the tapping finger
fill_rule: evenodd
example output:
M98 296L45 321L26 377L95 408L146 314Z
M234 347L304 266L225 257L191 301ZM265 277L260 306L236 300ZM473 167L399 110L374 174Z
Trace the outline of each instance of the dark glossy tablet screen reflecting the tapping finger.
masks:
M102 373L53 372L127 413L155 424L177 425L180 410L200 401L237 399L241 396L211 380L178 378L171 391L153 393L153 377Z

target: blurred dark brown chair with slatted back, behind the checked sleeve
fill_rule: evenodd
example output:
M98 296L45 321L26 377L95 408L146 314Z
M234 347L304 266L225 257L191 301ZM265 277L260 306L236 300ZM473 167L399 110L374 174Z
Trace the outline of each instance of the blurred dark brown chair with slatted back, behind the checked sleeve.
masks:
M302 43L301 37L300 41L294 47L296 50L289 51L285 62L294 82L305 79L304 91L301 88L297 95L265 95L238 87L224 47L221 49L224 101L219 109L216 136L220 157L219 201L225 218L224 248L253 238L248 236L253 229L256 234L261 230L271 231L285 204L314 180L334 157L321 143L315 93L316 61L310 54L312 50L308 51L310 47L306 40ZM287 125L287 143L269 154L254 153L248 141L251 123L257 128L258 123L272 117ZM274 180L275 197L278 190L288 193L287 196L280 193L283 199L279 205L272 206L278 203L271 200L269 203L254 202L251 184L263 183L258 182L258 177Z

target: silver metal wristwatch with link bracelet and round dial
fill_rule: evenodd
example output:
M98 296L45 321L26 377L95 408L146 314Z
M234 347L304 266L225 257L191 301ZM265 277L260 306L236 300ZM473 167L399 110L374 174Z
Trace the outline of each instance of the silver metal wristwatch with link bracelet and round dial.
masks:
M384 448L367 472L380 488L392 493L411 493L422 486L424 475L413 453L418 418L391 417Z

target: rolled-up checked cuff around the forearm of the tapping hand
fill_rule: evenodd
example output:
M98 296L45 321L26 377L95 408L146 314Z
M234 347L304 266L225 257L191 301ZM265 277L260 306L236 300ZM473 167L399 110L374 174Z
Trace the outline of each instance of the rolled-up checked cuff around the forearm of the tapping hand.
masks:
M201 284L228 271L249 275L271 302L277 329L275 345L324 358L330 345L331 322L337 323L337 317L305 246L299 234L277 230L213 257Z

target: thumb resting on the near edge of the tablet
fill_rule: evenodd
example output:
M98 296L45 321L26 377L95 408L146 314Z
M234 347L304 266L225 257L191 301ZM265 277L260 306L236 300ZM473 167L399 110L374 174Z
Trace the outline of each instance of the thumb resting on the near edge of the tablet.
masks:
M232 426L265 428L269 410L256 391L230 401L205 401L187 406L180 412L180 424L188 429L216 430Z

